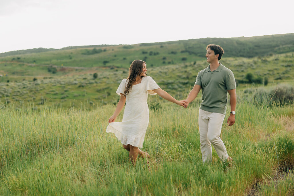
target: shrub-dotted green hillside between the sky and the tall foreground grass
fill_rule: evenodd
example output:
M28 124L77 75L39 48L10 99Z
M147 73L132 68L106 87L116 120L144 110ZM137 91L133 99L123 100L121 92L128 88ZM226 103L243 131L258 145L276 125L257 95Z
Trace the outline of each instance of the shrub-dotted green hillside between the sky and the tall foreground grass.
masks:
M116 103L116 88L122 78L128 76L128 67L135 59L146 61L148 75L163 89L183 98L194 85L197 73L208 66L205 48L209 43L223 46L225 55L220 62L233 71L241 90L263 84L293 84L294 33L74 46L60 50L40 48L22 51L23 54L14 51L18 55L2 53L0 100L3 104L49 102L66 108L74 103ZM9 54L11 56L7 56ZM96 79L93 73L98 74Z

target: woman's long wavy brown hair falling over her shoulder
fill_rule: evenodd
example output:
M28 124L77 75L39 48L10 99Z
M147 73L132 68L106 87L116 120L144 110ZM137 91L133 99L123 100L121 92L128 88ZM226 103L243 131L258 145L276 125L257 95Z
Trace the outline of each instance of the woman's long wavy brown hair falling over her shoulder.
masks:
M129 76L126 81L126 90L123 92L124 96L127 96L129 91L132 89L133 83L136 81L137 76L142 73L144 63L146 64L145 61L141 61L141 60L135 60L132 62L129 69ZM142 76L142 78L143 77L145 76Z

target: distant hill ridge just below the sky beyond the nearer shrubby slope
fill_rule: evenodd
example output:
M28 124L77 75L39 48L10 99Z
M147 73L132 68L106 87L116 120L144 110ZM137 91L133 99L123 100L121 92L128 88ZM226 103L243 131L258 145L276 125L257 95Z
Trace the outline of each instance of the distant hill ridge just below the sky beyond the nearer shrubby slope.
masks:
M201 60L208 44L219 44L224 57L255 57L294 52L294 33L239 37L203 38L136 45L74 46L62 49L31 49L0 54L0 61L67 67L128 67L134 59L149 66L162 66Z

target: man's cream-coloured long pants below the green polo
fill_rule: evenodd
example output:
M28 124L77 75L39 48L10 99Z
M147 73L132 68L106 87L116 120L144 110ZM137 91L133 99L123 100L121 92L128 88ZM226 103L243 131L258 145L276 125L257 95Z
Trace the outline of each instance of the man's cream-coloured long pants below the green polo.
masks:
M220 130L223 125L224 114L207 112L199 109L199 133L202 161L212 160L211 144L216 149L219 158L226 161L229 157L223 141L220 139Z

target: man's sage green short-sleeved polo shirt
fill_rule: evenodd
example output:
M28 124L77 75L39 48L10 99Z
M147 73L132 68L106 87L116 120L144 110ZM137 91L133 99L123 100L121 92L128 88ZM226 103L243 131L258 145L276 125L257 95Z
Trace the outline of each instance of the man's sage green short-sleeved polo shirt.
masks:
M210 65L201 70L195 85L201 86L202 103L200 109L225 114L228 90L236 88L234 74L221 63L216 70L210 71Z

